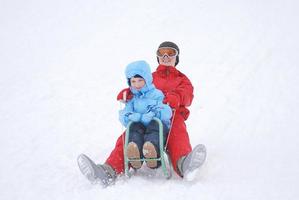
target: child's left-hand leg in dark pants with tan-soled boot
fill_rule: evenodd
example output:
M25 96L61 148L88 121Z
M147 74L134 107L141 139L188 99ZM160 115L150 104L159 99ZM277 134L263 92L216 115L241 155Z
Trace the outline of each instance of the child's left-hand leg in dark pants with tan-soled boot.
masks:
M142 145L143 135L145 127L140 122L134 122L131 124L129 129L129 143L127 146L127 156L129 159L140 159L142 158ZM131 161L131 166L135 169L139 169L142 166L141 161Z

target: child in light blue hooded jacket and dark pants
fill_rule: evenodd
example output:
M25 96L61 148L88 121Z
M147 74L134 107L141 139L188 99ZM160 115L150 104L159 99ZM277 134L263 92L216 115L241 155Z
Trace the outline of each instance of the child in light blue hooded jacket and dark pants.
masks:
M153 85L152 73L145 61L130 63L126 67L125 75L133 93L133 98L119 112L119 120L125 127L132 121L129 128L127 156L129 159L157 158L160 156L159 124L153 118L160 119L163 124L165 145L172 110L163 104L164 95ZM140 161L132 161L130 164L135 169L142 166ZM150 168L157 168L160 162L151 160L146 164Z

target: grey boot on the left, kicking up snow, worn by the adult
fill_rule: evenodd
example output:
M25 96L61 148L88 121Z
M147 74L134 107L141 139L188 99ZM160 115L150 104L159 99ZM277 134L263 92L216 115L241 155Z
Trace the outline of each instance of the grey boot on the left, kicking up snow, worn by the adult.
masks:
M108 164L96 165L88 156L81 154L77 158L81 173L92 183L107 187L114 183L116 173Z

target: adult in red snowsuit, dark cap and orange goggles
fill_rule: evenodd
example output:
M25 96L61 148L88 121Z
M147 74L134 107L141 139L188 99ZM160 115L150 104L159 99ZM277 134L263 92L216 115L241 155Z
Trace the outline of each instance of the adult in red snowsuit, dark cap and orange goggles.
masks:
M189 110L186 107L190 106L193 100L193 86L187 76L176 69L176 65L179 63L179 53L178 46L173 42L166 41L159 45L157 50L159 66L153 72L153 82L156 88L164 93L164 103L168 103L175 112L167 143L167 151L174 170L181 177L185 177L203 164L206 149L204 145L199 144L192 150L190 145L185 120L189 116ZM127 99L130 99L130 90L124 89L119 93L118 100L123 98L124 92L126 92ZM90 176L94 176L95 179L96 176L101 176L101 182L104 185L109 185L111 180L115 179L116 174L124 171L123 136L121 135L118 138L114 150L104 165L96 166L85 155L79 156L78 163L80 169L85 169L85 172L83 169L81 171L89 180L91 179ZM90 171L86 172L86 168ZM109 174L109 179L103 181L105 174Z

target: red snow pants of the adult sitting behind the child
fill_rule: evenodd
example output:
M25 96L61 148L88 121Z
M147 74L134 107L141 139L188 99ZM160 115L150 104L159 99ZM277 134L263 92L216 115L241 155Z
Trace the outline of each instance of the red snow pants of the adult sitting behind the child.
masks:
M124 133L117 139L115 148L106 160L116 173L124 172L124 152L123 152L123 136ZM169 140L167 144L172 166L176 173L180 175L177 168L177 161L192 151L189 141L189 135L186 129L186 124L183 116L176 112L174 115L173 124L170 130Z

